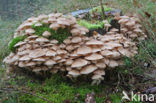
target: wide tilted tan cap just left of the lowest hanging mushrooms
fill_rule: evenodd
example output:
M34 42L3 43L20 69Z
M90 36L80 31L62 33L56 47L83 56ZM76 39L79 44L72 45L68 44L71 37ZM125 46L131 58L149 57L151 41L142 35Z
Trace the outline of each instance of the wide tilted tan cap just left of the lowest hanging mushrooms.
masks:
M90 74L92 73L93 71L95 71L97 69L97 66L95 65L88 65L86 67L83 67L80 71L81 74Z

